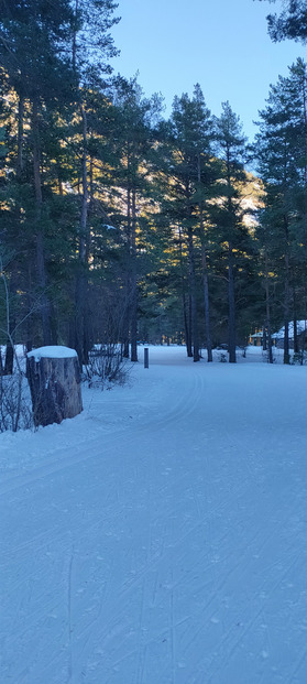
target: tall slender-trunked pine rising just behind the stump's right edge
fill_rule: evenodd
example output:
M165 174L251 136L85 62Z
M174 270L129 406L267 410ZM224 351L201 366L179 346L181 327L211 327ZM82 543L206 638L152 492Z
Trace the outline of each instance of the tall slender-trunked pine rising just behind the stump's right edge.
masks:
M113 17L117 4L112 0L74 0L74 31L72 36L72 68L74 73L75 102L78 110L78 149L80 159L80 218L78 235L78 268L76 272L76 306L72 330L73 344L80 365L87 362L90 348L88 338L88 258L89 258L89 120L87 101L94 89L103 90L106 76L111 73L110 59L118 51L110 29L118 23Z

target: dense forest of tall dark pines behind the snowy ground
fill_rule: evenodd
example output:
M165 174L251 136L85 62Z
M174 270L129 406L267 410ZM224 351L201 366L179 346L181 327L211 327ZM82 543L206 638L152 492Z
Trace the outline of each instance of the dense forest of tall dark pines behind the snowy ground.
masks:
M273 40L305 37L289 4ZM199 85L166 120L114 76L117 22L112 0L0 0L0 372L13 344L86 363L99 343L133 361L138 340L194 361L224 343L235 362L255 327L272 360L282 325L288 362L307 318L307 64L272 85L251 145Z

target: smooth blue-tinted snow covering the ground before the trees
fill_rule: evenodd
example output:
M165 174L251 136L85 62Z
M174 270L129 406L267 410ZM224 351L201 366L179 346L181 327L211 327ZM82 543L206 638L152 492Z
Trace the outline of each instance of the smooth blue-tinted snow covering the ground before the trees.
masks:
M1 684L306 684L307 367L260 358L0 435Z

